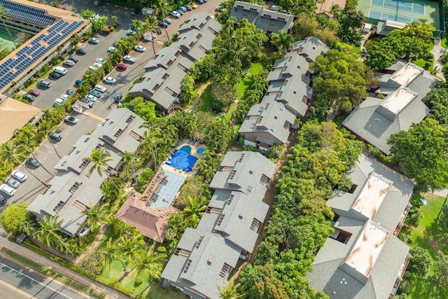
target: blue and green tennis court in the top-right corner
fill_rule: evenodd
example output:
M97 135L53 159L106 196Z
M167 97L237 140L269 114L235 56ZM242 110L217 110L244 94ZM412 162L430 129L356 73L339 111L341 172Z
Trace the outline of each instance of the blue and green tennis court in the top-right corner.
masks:
M442 2L430 0L359 0L358 9L367 16L367 22L377 24L379 21L421 22L435 27L435 36L444 32Z

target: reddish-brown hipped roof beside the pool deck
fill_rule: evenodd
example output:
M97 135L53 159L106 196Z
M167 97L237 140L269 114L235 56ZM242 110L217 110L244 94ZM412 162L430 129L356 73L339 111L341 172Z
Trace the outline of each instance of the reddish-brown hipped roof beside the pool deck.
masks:
M118 210L116 217L135 226L142 235L162 243L169 228L167 219L178 210L174 207L159 208L157 209L158 216L156 216L151 212L156 209L140 209L134 205L134 200L138 199L132 195L128 197ZM164 211L160 213L160 209L164 209Z

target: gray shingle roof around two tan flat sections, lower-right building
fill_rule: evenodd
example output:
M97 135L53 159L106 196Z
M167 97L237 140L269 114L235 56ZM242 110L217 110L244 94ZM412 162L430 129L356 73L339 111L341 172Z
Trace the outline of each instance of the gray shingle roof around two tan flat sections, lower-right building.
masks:
M372 172L392 182L391 188L372 219L379 223L385 231L388 231L388 236L376 263L372 262L370 274L363 283L363 279L359 279L359 277L356 279L359 276L356 270L346 267L346 259L353 251L353 246L358 238L365 238L363 234L365 234L364 227L367 223L366 217L351 207L358 199L363 185ZM358 187L353 194L336 191L335 197L328 200L328 206L339 215L334 227L349 232L351 237L346 244L328 237L325 245L319 249L316 255L313 272L308 273L307 278L311 286L316 290L323 290L330 295L330 298L386 299L392 291L403 263L409 258L409 246L395 237L393 232L402 220L401 216L412 196L414 184L405 176L365 155L360 155L356 166L347 174L353 184ZM374 199L374 196L369 199ZM337 233L335 234L337 235ZM367 257L365 263L368 262Z

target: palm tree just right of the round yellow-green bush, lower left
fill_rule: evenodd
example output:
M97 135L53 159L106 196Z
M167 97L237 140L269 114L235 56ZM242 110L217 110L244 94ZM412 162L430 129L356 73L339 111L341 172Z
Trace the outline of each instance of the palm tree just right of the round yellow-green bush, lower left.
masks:
M57 249L70 253L70 249L66 246L62 237L59 236L59 231L61 229L61 221L57 221L58 216L47 217L43 216L41 222L39 222L40 227L36 232L34 232L33 237L38 240L41 244L41 249L46 246L56 246Z

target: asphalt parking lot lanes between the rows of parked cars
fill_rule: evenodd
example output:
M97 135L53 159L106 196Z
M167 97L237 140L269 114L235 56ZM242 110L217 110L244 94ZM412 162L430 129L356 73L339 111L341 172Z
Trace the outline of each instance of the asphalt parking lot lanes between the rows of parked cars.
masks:
M79 61L73 67L66 67L68 72L66 75L62 76L62 78L59 78L58 80L45 78L45 80L52 83L52 87L48 90L37 88L37 90L41 92L41 95L36 98L33 106L40 109L46 109L51 107L54 104L55 99L64 94L67 89L76 90L75 81L83 77L85 71L87 71L88 67L93 64L98 57L106 57L109 46L112 46L114 42L126 35L127 29L129 29L132 24L132 20L134 18L144 20L145 18L144 15L141 15L141 13L139 13L136 17L132 16L132 10L130 8L123 8L113 4L94 6L93 2L94 1L62 1L59 2L59 4L65 6L67 10L71 10L71 7L74 5L77 11L80 11L81 9L90 9L97 12L99 15L108 15L109 17L116 15L120 26L111 34L97 34L96 37L99 39L99 43L96 45L90 43L80 44L80 48L87 50L87 54L74 55L79 59ZM171 16L167 17L172 20L172 25L167 28L169 36L171 37L174 33L176 33L177 29L179 29L179 25L190 18L190 15L193 15L194 13L207 11L214 14L215 7L220 4L220 2L221 1L218 0L209 0L205 4L197 5L197 9L185 13L179 19ZM167 41L165 29L162 34L158 36L158 39L155 40L156 52L162 48L162 43L164 41ZM53 144L54 148L48 141L44 141L43 144L36 149L34 155L38 161L41 162L42 166L37 169L29 169L28 167L25 169L23 166L19 167L19 169L28 175L28 179L25 183L22 183L22 186L18 188L17 193L15 193L15 195L8 200L8 203L29 203L32 202L38 194L43 193L45 186L34 178L34 176L37 176L44 183L48 183L52 179L52 176L57 174L57 170L53 169L53 167L56 165L57 161L59 161L59 156L62 157L63 155L69 153L76 140L78 140L83 134L94 130L97 125L109 114L111 109L116 108L117 104L113 102L113 95L118 92L123 92L123 95L125 95L130 89L135 78L138 78L144 73L143 67L146 62L154 57L151 41L143 41L141 45L146 47L146 51L144 53L139 53L133 50L130 55L137 58L137 61L134 64L126 63L127 70L121 71L114 69L110 74L106 75L116 78L117 82L115 84L108 85L106 83L100 83L107 88L107 91L104 92L102 97L100 97L97 102L95 102L92 109L87 111L90 115L73 112L72 115L76 116L79 121L76 125L62 123L59 126L57 132L62 135L62 140ZM44 168L48 169L50 174L46 172ZM34 176L30 173L34 174Z

